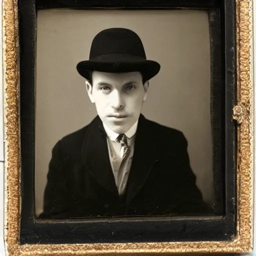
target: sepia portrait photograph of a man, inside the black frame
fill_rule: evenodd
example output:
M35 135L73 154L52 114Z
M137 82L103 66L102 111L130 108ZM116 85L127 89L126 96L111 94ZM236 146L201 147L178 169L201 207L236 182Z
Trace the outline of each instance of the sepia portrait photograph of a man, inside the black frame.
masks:
M38 218L214 214L208 20L38 11Z

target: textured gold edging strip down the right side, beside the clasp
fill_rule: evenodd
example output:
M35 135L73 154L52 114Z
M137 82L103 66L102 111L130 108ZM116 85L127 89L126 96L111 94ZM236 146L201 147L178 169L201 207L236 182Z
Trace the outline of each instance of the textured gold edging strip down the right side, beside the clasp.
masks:
M237 127L237 233L240 243L249 245L252 242L252 0L237 0L236 12L237 101L247 113Z

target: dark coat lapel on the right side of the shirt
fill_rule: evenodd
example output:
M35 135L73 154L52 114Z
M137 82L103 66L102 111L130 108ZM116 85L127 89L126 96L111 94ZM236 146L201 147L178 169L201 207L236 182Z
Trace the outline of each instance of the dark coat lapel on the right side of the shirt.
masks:
M134 153L126 186L126 205L143 186L153 164L158 159L158 143L155 132L148 126L149 122L141 114L135 137Z

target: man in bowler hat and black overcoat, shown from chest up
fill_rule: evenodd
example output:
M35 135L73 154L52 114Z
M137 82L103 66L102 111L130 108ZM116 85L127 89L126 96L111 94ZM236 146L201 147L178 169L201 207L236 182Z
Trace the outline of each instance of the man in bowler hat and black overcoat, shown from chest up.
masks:
M94 37L77 71L98 115L53 147L41 217L209 213L182 132L140 113L159 69L129 29Z

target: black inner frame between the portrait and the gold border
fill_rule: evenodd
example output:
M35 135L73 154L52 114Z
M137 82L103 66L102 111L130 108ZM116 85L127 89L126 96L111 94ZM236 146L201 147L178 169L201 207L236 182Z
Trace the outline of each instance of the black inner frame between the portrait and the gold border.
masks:
M202 9L209 14L214 216L40 220L34 213L36 14L39 9ZM235 0L18 0L20 46L20 243L230 240L236 232Z

